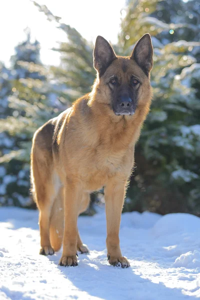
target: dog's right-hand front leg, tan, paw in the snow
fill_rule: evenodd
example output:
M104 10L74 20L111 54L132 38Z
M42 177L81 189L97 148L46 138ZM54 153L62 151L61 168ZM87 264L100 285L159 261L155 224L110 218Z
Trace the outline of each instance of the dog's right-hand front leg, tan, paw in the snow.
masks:
M118 180L117 180L118 181ZM119 246L119 226L121 220L121 210L123 206L125 183L110 180L104 189L105 192L105 212L107 223L107 258L112 265L121 267L130 266L126 257L121 254Z

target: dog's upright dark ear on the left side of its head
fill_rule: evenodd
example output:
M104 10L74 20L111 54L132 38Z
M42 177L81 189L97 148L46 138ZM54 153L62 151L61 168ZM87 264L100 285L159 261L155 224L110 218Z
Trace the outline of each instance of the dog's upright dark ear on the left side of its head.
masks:
M114 50L110 44L102 36L96 37L96 42L93 51L94 67L101 76L108 65L116 58Z

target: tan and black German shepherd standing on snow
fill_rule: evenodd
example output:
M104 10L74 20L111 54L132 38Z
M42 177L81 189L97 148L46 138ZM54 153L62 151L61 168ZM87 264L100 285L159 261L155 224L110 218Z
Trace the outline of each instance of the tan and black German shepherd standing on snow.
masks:
M110 264L128 267L119 246L121 210L134 162L134 145L149 111L152 44L148 33L130 56L117 56L97 36L97 71L90 93L36 130L31 149L31 183L39 209L40 254L63 243L59 265L76 266L77 250L87 253L77 217L89 194L104 186L106 247Z

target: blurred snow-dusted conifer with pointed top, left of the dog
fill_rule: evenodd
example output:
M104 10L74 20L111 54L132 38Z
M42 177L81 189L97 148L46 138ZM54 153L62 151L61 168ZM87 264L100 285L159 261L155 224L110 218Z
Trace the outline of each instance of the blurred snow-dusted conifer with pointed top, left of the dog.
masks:
M8 144L0 149L3 154L0 158L1 204L32 205L29 197L31 139L34 131L58 112L52 106L52 99L51 103L49 100L48 70L40 62L39 49L38 41L31 42L27 31L26 40L15 47L11 68L7 70L9 80L3 111L7 117L0 119L1 140Z

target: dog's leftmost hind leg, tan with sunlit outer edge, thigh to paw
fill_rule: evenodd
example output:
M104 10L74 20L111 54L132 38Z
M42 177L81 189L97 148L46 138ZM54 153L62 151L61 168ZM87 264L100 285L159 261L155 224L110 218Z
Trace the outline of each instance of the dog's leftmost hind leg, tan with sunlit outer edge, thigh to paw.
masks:
M45 129L45 128L44 128ZM43 129L43 131L44 131ZM40 230L40 254L52 255L53 248L50 245L49 224L51 208L54 201L54 186L52 182L53 161L52 151L46 147L49 132L45 135L36 131L33 138L31 151L31 184L33 198L39 209L39 230Z

